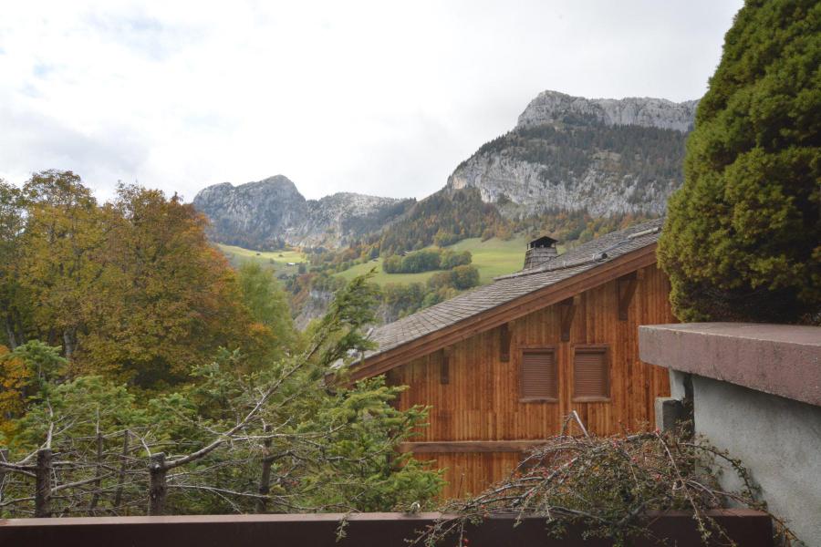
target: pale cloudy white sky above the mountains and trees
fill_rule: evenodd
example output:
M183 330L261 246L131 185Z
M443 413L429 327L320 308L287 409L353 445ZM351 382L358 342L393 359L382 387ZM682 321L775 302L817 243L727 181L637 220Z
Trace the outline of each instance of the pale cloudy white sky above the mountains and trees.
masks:
M699 98L741 0L0 0L0 178L422 198L545 89Z

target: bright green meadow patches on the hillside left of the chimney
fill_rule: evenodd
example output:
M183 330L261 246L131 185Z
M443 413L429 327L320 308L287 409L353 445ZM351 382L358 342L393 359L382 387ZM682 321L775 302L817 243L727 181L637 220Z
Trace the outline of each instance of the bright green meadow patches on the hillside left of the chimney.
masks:
M512 274L522 269L525 263L525 248L527 242L525 237L517 237L510 241L491 239L483 242L479 238L462 240L448 247L454 251L470 251L473 255L473 265L479 270L479 278L482 284L488 284L494 277L504 274ZM357 264L353 268L340 274L340 277L351 279L360 274L365 274L370 268L376 267L377 274L373 281L378 284L388 283L425 283L431 275L436 272L423 272L421 274L385 274L381 270L382 259L369 262L367 264Z

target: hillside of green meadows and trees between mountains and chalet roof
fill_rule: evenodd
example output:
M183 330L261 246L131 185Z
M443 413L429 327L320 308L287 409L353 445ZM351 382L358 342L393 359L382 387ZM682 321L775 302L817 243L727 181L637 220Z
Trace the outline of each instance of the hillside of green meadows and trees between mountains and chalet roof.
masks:
M443 193L432 197L448 200ZM443 211L448 215L451 209L446 205ZM436 213L431 214L433 222L436 222ZM465 226L460 223L460 217L449 218L456 230ZM398 222L380 237L355 242L346 249L336 252L314 250L313 253L307 253L310 266L305 274L289 274L287 268L271 264L270 259L264 258L262 254L259 257L255 253L248 255L258 263L277 269L290 295L297 325L307 325L311 319L322 315L333 291L343 286L345 280L366 274L370 270L375 272L373 282L379 285L376 289L380 303L378 319L380 322L388 322L452 298L478 284L490 283L495 276L520 270L525 260L527 242L537 235L552 234L564 249L631 224L644 222L651 216L614 214L594 217L581 211L554 211L518 221L496 216L489 218L494 222L491 224L493 228L485 228L483 237L470 237L447 245L443 242L450 241L451 238L441 238L441 233L413 230L425 226L424 222ZM391 253L381 254L383 241L396 245L396 248ZM471 253L471 262L461 263L456 267L451 261L440 260L437 263L432 260L434 255L442 258L465 252ZM431 260L418 261L417 257L428 257Z

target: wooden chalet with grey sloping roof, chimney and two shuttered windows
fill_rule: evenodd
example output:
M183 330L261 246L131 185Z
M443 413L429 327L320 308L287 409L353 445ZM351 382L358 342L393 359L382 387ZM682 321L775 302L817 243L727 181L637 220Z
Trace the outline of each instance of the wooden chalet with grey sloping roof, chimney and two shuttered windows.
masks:
M562 255L528 245L525 269L376 329L354 380L407 385L398 405L430 405L430 427L402 447L447 469L445 497L504 478L522 451L576 410L607 435L650 422L667 372L639 361L638 327L671 323L656 266L661 221Z

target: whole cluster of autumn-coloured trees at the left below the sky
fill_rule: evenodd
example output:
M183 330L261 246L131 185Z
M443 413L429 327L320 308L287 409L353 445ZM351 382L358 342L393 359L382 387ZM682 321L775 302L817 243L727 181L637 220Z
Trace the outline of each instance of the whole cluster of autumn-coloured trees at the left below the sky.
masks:
M296 335L270 274L240 280L192 205L121 185L99 205L78 175L0 183L0 342L61 346L67 374L140 387L188 380L217 348L260 366Z

